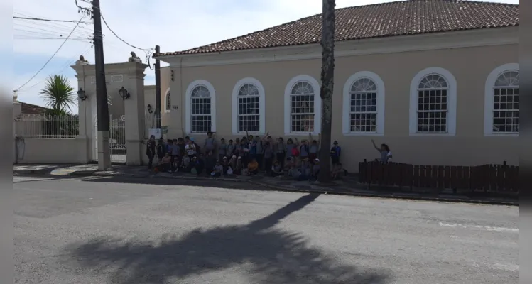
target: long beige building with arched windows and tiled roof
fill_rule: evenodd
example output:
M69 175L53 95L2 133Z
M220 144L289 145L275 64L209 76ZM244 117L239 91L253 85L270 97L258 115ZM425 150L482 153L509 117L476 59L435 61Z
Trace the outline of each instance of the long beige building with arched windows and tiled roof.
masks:
M336 13L332 139L347 168L378 158L371 139L403 163L518 163L518 5L410 0ZM315 15L154 55L174 74L168 136L317 136L320 29Z

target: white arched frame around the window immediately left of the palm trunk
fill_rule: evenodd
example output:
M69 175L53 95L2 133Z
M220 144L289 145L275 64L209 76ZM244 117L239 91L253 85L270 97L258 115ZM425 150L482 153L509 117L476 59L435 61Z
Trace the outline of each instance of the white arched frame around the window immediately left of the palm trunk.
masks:
M295 86L295 84L298 84L299 82L307 82L310 84L310 86L314 89L314 131L313 132L292 132L292 126L291 126L291 106L292 106L292 88ZM310 75L298 75L293 77L290 81L288 81L288 84L286 84L285 88L285 99L284 99L284 126L285 126L285 135L291 135L291 136L308 136L308 134L315 134L321 133L321 127L322 127L322 98L320 96L320 83L317 82L317 80L310 76Z

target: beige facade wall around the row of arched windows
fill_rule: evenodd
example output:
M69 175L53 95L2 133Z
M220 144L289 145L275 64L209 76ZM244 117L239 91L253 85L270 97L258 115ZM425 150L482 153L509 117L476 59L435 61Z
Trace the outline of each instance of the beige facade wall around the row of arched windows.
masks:
M332 139L342 146L344 165L357 170L364 159L378 158L371 146L388 143L394 160L428 165L478 165L518 163L517 137L484 136L484 84L494 68L518 62L517 45L452 48L337 58L332 114ZM283 96L286 84L297 75L320 80L321 61L293 60L208 67L173 67L173 99L180 98L178 111L171 112L169 136L183 135L185 90L194 80L213 85L217 101L217 136L232 136L232 91L244 77L254 77L266 93L266 131L284 136ZM410 136L409 102L413 77L427 67L442 67L457 80L456 136ZM347 78L359 71L375 72L386 86L384 136L344 136L342 134L342 92ZM199 135L194 135L200 138Z

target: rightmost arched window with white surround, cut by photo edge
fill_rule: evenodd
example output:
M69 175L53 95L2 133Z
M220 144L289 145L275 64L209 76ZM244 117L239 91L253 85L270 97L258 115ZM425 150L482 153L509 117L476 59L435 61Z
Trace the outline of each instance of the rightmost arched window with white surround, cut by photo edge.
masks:
M484 99L484 133L519 134L519 65L503 65L490 73Z

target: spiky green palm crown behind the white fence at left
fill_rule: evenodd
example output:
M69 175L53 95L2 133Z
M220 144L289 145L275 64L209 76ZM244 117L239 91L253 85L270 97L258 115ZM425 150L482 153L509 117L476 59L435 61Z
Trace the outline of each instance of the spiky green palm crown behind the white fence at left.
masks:
M56 115L65 114L70 105L75 104L74 88L64 75L50 75L44 89L39 93L46 102L46 107L52 109Z

